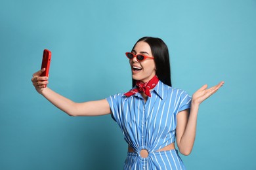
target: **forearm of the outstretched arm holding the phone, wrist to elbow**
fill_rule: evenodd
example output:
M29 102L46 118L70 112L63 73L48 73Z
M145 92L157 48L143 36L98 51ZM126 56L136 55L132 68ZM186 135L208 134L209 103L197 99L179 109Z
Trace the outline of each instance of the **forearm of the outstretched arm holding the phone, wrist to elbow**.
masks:
M58 107L58 109L66 112L70 116L75 116L75 103L74 101L63 97L62 95L54 92L50 88L45 88L43 92L41 92L48 101L53 103L54 106Z

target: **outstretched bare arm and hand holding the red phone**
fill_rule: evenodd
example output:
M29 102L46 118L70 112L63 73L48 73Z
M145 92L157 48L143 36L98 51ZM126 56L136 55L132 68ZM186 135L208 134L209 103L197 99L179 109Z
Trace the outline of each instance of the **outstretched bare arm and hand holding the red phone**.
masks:
M58 107L58 109L63 110L70 116L100 116L110 113L110 106L106 99L75 103L46 87L48 77L39 76L43 71L45 71L45 69L33 74L33 86L35 86L38 93L43 95L47 100L53 103L54 106Z

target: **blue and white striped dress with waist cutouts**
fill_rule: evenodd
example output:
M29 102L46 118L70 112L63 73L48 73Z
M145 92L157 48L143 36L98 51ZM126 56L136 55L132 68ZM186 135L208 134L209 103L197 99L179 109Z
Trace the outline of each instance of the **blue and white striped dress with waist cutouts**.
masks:
M177 114L190 108L188 93L159 81L146 103L140 93L118 93L107 100L112 118L135 150L128 152L124 169L185 169L177 150L156 151L175 142ZM140 156L142 149L148 150L147 158Z

